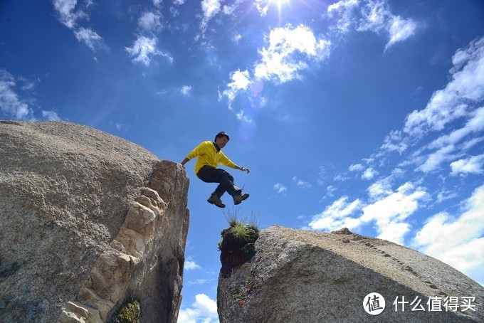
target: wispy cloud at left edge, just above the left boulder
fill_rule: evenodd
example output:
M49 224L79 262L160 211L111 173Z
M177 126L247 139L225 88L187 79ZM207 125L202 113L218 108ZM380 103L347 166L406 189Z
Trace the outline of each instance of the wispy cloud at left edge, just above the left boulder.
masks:
M15 91L14 75L0 70L0 112L15 120L35 120L33 110Z

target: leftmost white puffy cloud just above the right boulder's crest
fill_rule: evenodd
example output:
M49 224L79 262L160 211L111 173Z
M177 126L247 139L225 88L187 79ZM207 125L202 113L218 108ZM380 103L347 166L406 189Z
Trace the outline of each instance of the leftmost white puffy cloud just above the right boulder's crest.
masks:
M348 202L348 197L343 196L328 206L325 211L313 216L309 226L312 230L333 231L340 228L352 230L362 223L359 218L349 217L358 211L360 206L361 201L359 199Z

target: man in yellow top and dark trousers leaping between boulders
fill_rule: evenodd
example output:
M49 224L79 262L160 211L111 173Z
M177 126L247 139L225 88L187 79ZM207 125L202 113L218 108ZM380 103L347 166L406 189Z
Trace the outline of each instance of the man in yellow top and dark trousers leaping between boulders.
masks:
M225 132L219 132L215 136L214 142L202 142L194 150L192 150L185 159L181 162L181 166L185 167L186 162L190 159L198 157L195 164L196 176L206 183L219 183L207 200L211 204L225 208L225 204L221 201L221 196L227 191L233 197L234 204L240 204L243 200L248 198L248 193L242 194L242 190L233 184L233 177L227 171L219 169L219 163L233 169L240 169L241 171L250 172L248 169L237 166L221 151L227 144L230 138Z

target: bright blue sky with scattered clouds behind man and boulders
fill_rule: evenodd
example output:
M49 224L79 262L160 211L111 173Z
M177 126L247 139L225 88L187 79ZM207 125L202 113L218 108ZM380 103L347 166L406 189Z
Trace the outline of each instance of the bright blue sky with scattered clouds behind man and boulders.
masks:
M66 120L181 162L224 130L259 226L355 233L484 283L484 4L6 0L0 118ZM217 322L214 184L186 164L179 322ZM457 297L465 295L453 295Z

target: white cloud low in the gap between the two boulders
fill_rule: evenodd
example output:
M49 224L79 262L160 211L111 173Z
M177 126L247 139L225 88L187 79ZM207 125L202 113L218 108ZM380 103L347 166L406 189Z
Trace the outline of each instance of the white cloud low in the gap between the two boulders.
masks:
M191 307L182 308L178 314L178 323L216 323L219 322L217 302L205 294L195 296Z

